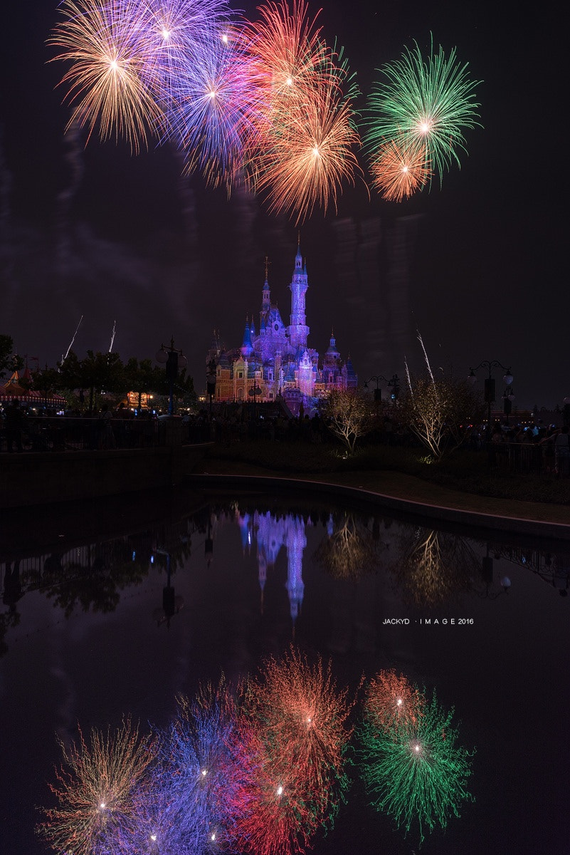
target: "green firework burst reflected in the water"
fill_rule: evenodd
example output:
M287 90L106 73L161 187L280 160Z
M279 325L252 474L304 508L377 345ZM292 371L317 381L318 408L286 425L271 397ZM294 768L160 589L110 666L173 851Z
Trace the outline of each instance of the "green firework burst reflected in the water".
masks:
M422 716L392 732L370 718L360 728L363 777L372 805L393 817L420 840L439 823L445 828L459 806L473 800L467 781L473 752L457 746L453 710L445 712L435 694Z

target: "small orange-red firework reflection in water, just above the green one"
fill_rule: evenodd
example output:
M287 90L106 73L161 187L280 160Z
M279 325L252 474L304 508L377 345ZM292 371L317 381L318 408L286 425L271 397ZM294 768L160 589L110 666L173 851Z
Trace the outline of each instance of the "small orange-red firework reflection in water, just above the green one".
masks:
M397 734L403 726L416 724L422 716L424 697L404 675L393 669L381 671L370 681L364 716L384 733Z

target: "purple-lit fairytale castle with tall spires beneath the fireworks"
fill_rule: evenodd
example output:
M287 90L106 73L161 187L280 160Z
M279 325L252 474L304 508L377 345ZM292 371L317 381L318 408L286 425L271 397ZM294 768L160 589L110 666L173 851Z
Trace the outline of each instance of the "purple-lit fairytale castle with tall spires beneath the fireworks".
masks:
M348 357L342 362L334 336L331 336L321 365L317 351L307 345L305 294L308 287L306 266L298 246L289 285L291 315L286 327L277 305L271 303L265 264L259 333L253 318L251 321L247 318L241 347L233 350L225 350L214 334L206 363L212 376L215 367L215 401L274 401L282 396L296 415L300 404L307 412L332 389L357 386L358 377L351 359Z

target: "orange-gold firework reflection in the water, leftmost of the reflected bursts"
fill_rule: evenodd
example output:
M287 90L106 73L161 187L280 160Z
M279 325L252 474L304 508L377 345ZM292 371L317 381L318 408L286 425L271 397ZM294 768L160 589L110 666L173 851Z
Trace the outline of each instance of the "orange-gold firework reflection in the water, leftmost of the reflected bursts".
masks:
M148 736L139 738L128 718L115 734L93 729L90 745L80 728L79 744L59 743L63 764L56 769L57 783L49 785L59 805L44 809L47 821L38 834L56 852L108 852L123 823L136 815L153 743Z

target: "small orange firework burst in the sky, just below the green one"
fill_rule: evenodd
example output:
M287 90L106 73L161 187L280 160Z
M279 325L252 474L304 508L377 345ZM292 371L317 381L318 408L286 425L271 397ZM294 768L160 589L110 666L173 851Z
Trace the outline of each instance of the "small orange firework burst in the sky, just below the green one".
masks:
M375 186L388 202L401 202L422 190L431 176L425 141L393 139L381 146L370 165Z

